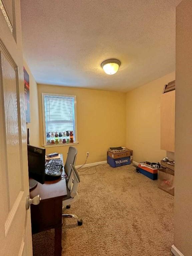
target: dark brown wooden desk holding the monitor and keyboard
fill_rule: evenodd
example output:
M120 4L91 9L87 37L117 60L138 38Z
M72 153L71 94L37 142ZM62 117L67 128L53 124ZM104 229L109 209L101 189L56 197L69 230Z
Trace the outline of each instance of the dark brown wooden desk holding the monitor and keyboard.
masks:
M63 163L63 157L61 155ZM64 174L64 168L63 168ZM51 228L55 229L54 255L61 256L62 246L62 201L67 197L67 186L64 178L54 181L38 182L37 186L30 190L30 197L40 195L39 205L31 205L32 234Z

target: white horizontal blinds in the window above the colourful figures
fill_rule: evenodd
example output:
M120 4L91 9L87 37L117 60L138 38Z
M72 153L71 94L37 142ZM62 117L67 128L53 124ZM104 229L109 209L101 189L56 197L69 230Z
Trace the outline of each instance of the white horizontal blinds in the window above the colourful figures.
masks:
M45 95L44 104L46 133L73 131L75 141L75 96Z

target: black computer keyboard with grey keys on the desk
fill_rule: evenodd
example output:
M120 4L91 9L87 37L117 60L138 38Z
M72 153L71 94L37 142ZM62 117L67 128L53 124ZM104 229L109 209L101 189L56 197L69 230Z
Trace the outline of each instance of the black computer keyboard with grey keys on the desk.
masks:
M59 177L62 174L62 167L60 159L51 159L45 165L45 174L50 177Z

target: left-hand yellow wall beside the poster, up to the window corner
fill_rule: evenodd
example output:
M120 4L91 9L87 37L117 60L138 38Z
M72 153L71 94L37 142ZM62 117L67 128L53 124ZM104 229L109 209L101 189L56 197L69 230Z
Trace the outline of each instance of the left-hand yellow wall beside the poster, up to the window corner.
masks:
M38 107L38 92L37 83L26 63L23 60L23 65L29 74L29 93L30 93L30 118L31 122L27 123L27 128L30 131L30 144L34 146L40 146L39 136L39 107Z

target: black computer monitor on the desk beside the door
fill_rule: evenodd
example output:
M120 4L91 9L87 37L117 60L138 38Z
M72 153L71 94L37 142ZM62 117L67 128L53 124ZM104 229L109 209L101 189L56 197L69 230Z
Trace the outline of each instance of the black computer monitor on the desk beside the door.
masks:
M44 184L45 149L27 145L29 177Z

